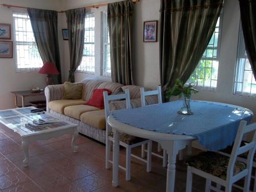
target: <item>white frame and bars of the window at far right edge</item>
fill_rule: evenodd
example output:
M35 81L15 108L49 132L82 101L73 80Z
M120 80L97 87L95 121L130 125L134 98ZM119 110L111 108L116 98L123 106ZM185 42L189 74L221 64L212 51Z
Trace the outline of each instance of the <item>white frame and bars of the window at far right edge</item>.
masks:
M252 84L254 84L254 83L252 83L253 78L254 78L253 72L252 72L252 70L246 70L245 69L245 64L240 65L240 62L246 62L246 61L241 61L241 59L246 60L246 59L248 59L248 56L247 56L246 48L245 48L242 24L241 24L241 21L240 21L236 67L234 69L234 79L233 79L233 95L256 98L256 93L251 93ZM245 71L251 71L252 72L251 83L250 83L250 92L249 93L248 92L243 92ZM236 80L238 75L240 76L238 78L241 78L241 76L242 76L242 79L243 79L242 82ZM241 88L242 91L237 91L238 83L242 83L242 88Z

